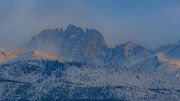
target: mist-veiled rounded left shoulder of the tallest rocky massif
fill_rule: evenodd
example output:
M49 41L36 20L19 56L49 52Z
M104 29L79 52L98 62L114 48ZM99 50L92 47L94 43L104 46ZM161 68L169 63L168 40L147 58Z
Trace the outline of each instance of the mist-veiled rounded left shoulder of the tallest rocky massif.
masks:
M62 30L47 29L35 35L26 45L27 50L42 50L50 53L58 54L59 47L61 47Z

